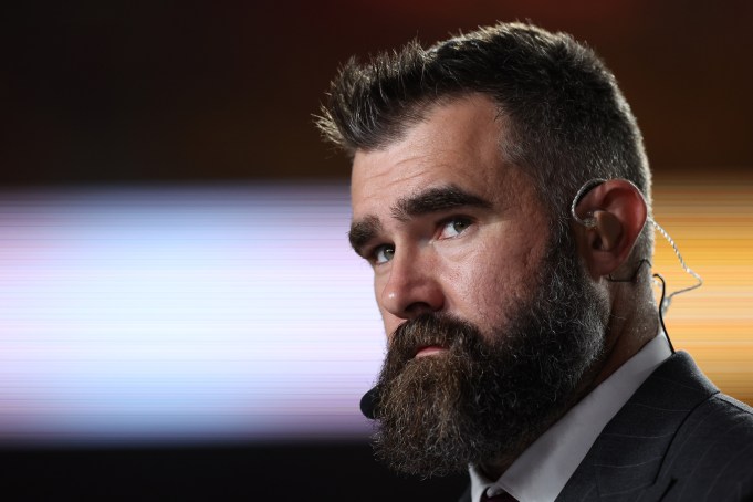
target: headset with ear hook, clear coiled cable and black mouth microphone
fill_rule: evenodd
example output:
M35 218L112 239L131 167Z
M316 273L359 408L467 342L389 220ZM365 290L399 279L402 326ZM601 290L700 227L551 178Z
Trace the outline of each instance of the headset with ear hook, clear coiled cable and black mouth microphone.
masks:
M583 199L583 196L585 196L589 190L592 190L593 188L596 188L597 186L599 186L599 185L602 185L603 182L606 182L606 181L607 181L606 179L602 179L602 178L595 178L595 179L588 180L585 184L583 184L583 186L577 191L577 194L575 194L575 197L573 198L573 203L571 205L571 216L573 217L573 219L576 222L578 222L579 224L582 224L586 228L595 228L596 227L596 219L595 218L593 218L593 217L588 217L586 219L581 218L575 212L575 207L581 201L581 199ZM637 188L636 188L636 190L637 190ZM638 192L640 194L640 190L638 190ZM657 223L653 220L653 218L648 217L647 220L653 226L653 228L656 230L659 231L659 233L661 233L665 237L665 239L667 239L669 244L672 247L672 250L674 251L674 254L677 255L678 260L680 260L680 265L682 265L682 269L687 273L689 273L690 275L696 278L696 280L698 281L696 284L693 284L691 286L683 287L683 289L678 290L678 291L673 291L670 295L666 296L665 295L665 293L666 293L665 278L662 278L661 274L659 274L659 273L653 274L653 279L659 280L661 282L661 284L660 284L661 285L661 299L659 300L659 322L661 323L661 328L663 330L665 335L667 336L667 341L669 342L670 348L672 349L672 352L674 352L674 347L672 346L672 342L669 339L669 334L667 333L667 327L665 326L663 314L667 312L667 310L669 310L669 305L671 304L672 297L674 295L678 295L678 294L681 294L681 293L687 293L687 292L692 291L697 287L700 287L703 284L703 280L701 279L701 276L699 274L693 272L686 264L684 260L682 259L682 255L680 254L680 250L677 248L677 244L674 243L672 238L669 236L669 233L667 233L667 231L659 223ZM647 263L649 266L651 266L651 262L648 259L646 259L646 258L641 259L640 263L638 264L638 268L636 269L636 273L630 279L614 279L611 276L609 276L608 279L611 282L634 282L635 278L638 274L638 270L644 265L644 263ZM377 387L374 387L370 390L368 390L366 394L364 394L364 397L360 398L360 412L364 414L364 416L366 418L370 418L372 420L374 420L374 419L376 419L378 407L379 407L379 387L377 386Z

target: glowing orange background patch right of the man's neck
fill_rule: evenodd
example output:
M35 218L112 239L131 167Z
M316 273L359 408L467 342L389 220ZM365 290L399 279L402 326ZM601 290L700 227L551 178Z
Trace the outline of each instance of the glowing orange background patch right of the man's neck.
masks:
M753 404L753 176L657 177L653 216L677 242L701 289L673 299L665 323L724 393ZM657 233L653 271L670 293L694 283Z

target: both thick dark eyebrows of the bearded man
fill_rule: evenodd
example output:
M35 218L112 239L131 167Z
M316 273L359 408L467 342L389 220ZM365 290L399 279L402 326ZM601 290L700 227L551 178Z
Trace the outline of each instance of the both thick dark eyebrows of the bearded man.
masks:
M470 194L456 185L428 188L408 197L399 199L391 208L393 217L406 221L410 217L447 211L461 207L477 207L489 209L492 203L477 195ZM363 257L363 248L383 229L381 221L376 216L354 221L351 224L348 240L354 251Z

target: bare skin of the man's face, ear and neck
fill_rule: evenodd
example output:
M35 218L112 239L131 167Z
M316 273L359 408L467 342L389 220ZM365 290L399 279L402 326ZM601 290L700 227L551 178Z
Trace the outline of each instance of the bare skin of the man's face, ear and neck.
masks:
M358 150L352 175L351 242L374 268L374 289L388 342L425 313L446 313L504 336L513 306L532 297L548 242L548 215L531 178L505 163L504 119L487 96L452 98L426 111L404 137ZM459 195L460 194L460 195ZM631 251L646 222L646 202L625 180L586 194L572 223L586 281L608 299L604 356L586 372L573 402L614 373L658 332L648 281L632 276ZM494 335L496 333L498 335ZM442 357L443 347L417 347ZM481 461L492 479L514 458Z

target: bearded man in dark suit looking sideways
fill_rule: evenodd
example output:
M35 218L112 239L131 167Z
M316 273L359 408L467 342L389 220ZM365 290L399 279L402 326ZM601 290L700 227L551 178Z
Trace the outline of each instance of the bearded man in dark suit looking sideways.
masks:
M589 49L512 23L352 60L318 125L388 334L380 459L470 466L473 502L753 496L752 410L663 333L642 139Z

